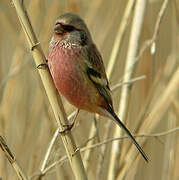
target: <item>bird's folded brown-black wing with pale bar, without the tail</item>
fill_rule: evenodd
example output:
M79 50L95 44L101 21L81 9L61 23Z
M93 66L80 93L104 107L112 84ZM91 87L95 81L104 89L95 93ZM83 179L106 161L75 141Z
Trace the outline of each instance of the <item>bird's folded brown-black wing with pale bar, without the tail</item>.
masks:
M89 79L93 82L107 103L112 106L109 82L98 49L95 44L91 44L91 46L86 46L84 51L85 69Z

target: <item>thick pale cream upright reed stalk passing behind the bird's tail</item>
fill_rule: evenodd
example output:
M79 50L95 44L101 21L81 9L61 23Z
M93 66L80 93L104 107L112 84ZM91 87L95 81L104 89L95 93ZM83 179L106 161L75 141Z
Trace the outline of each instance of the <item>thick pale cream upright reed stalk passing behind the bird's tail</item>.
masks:
M143 25L143 20L145 16L145 9L146 9L147 1L146 0L138 0L136 2L134 18L131 27L131 37L129 41L129 50L127 54L127 60L124 70L124 79L123 81L129 81L134 73L134 69L136 65L134 64L135 57L138 51L138 42L140 39L141 29ZM129 101L130 101L130 92L131 85L124 85L121 90L121 100L119 104L119 113L120 117L123 121L127 119L127 112L129 108ZM115 126L114 130L114 137L121 136L122 131ZM111 150L111 159L110 159L110 166L108 172L108 180L114 180L116 175L116 160L118 159L120 154L119 149L119 142L114 142L112 144ZM127 162L126 162L127 163Z

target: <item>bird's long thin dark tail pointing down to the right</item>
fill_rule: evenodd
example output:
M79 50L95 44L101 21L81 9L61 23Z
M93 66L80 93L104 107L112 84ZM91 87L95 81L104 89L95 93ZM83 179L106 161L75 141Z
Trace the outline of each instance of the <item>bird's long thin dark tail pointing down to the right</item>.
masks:
M146 162L149 161L147 155L144 153L144 151L142 150L142 148L140 147L140 145L137 143L137 141L135 140L135 138L132 136L132 134L130 133L130 131L126 128L126 126L122 123L122 121L118 118L118 116L116 115L116 113L114 112L114 110L112 108L107 109L107 111L113 116L114 120L117 122L117 124L125 131L125 133L131 138L133 144L136 146L136 148L138 149L138 151L141 153L141 155L143 156L143 158L145 159Z

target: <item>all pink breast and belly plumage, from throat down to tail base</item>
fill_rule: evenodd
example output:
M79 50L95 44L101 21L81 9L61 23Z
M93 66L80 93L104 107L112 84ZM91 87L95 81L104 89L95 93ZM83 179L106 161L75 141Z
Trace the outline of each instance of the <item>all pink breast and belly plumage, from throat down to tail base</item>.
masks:
M50 49L48 64L57 90L79 109L98 112L100 96L96 88L89 86L82 71L81 48L64 48L59 42ZM100 113L101 114L101 113Z

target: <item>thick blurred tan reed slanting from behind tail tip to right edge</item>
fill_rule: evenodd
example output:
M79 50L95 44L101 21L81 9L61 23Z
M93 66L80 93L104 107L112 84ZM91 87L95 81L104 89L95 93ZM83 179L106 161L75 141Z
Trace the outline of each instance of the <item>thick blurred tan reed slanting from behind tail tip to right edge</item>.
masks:
M176 96L178 88L179 88L179 68L176 69L176 71L173 73L171 80L169 81L166 89L158 97L158 100L154 104L151 112L148 114L148 116L144 120L139 130L145 130L146 133L150 133L152 130L155 129L155 127L157 127L160 120L162 119L162 116L165 114L168 107L172 103L173 97ZM146 142L145 139L139 140L140 144L144 144L145 142ZM135 151L136 150L134 149L134 147L130 148L128 154L126 155L127 163L124 164L124 167L121 170L118 179L121 180L126 176L127 172L131 168L135 159L139 157L138 155L136 155ZM137 158L137 160L138 159L139 158Z

